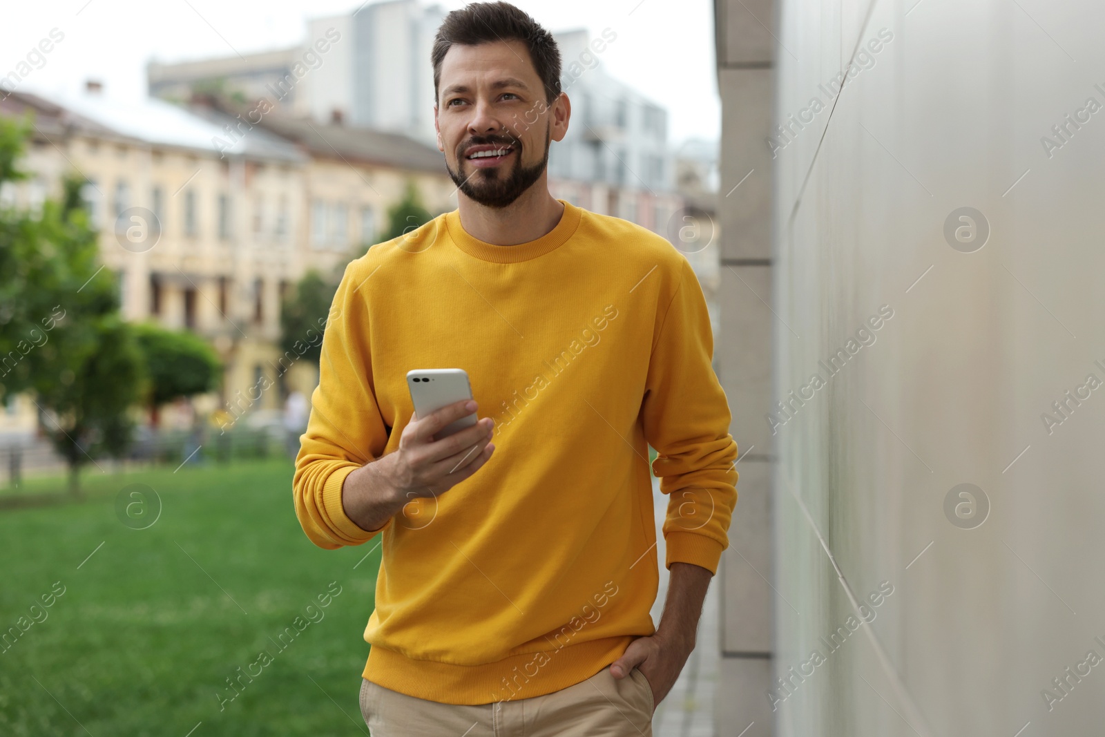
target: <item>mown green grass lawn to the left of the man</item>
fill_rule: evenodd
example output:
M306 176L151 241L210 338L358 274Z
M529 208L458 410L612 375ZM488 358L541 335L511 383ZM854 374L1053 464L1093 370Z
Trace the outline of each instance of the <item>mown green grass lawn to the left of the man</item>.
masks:
M64 491L64 480L53 483ZM135 483L162 505L146 529L116 513ZM376 540L312 545L295 518L290 461L93 468L83 487L80 503L0 512L0 633L20 618L27 627L32 604L64 587L33 610L43 621L0 645L10 645L0 652L0 735L368 733L357 696L380 551L364 559ZM340 593L308 618L332 581ZM281 650L274 641L290 627L298 634ZM271 657L263 666L261 651ZM219 694L234 693L227 678L246 668L261 672L220 708Z

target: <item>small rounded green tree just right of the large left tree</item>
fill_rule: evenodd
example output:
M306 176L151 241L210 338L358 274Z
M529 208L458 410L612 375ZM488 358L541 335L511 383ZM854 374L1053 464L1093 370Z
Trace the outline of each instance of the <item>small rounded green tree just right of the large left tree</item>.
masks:
M219 387L222 364L214 349L199 336L154 324L137 325L135 333L148 377L145 399L154 427L158 424L161 404Z

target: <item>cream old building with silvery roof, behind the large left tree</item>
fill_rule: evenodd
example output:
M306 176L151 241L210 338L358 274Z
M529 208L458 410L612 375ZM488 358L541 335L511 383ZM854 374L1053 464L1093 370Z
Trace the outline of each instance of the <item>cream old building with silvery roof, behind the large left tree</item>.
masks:
M43 189L56 194L74 171L88 180L85 199L127 319L210 338L227 366L228 398L271 372L280 293L306 266L298 236L304 154L254 131L220 158L211 141L221 126L157 99L124 104L97 92L54 102L15 93L3 106L34 114L38 143L27 168ZM255 202L267 206L260 228ZM133 211L138 221L131 208L141 209ZM140 230L131 231L136 223ZM263 396L259 407L276 401Z

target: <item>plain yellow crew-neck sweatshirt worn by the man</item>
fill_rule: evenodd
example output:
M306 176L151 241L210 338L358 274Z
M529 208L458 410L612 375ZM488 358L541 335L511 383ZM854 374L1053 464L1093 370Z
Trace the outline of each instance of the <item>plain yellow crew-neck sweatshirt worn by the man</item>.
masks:
M511 246L439 215L351 262L334 297L293 495L319 547L382 537L364 676L386 688L529 698L655 632L650 444L667 567L716 572L728 546L737 446L702 287L661 236L564 204L552 231ZM341 484L398 448L407 371L428 368L467 371L495 452L366 531Z

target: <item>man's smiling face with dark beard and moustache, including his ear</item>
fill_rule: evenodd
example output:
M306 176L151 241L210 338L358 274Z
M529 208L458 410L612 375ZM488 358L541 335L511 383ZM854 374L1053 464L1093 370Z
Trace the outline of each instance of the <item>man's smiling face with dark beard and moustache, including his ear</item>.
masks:
M439 87L438 149L461 192L505 208L544 177L549 144L567 133L570 108L566 95L546 101L524 44L454 45Z

